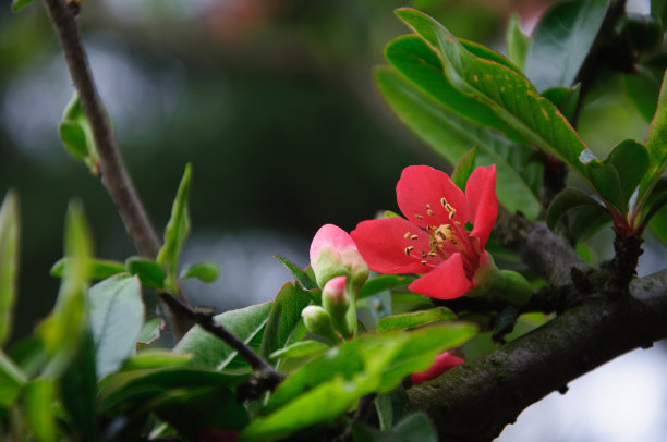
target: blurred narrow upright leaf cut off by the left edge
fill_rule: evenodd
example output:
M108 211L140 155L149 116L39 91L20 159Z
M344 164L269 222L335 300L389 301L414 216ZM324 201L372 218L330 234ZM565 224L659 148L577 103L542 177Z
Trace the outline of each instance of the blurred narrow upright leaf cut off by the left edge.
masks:
M0 207L0 346L12 327L19 277L19 200L8 192Z

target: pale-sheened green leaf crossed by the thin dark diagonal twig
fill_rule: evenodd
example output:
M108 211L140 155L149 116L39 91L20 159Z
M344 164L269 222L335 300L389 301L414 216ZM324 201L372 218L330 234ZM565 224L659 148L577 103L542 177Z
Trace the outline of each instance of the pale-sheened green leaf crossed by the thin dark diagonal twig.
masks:
M247 344L264 331L272 304L226 311L214 319ZM193 327L173 351L192 353L191 366L215 367L218 370L227 367L237 356L237 351L198 326ZM247 363L244 365L247 366Z

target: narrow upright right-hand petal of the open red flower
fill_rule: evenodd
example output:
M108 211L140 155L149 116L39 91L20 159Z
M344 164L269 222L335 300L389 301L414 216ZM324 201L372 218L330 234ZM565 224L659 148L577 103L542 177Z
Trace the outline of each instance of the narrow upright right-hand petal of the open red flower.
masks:
M465 185L465 197L473 223L470 236L480 238L480 247L484 248L498 218L495 164L473 171Z

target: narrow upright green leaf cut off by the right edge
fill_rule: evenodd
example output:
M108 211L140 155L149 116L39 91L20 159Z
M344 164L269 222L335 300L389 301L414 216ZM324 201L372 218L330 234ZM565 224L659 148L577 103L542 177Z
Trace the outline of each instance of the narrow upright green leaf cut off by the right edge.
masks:
M646 150L648 151L648 170L640 183L638 199L640 208L667 168L667 71L663 78L657 109L646 136Z

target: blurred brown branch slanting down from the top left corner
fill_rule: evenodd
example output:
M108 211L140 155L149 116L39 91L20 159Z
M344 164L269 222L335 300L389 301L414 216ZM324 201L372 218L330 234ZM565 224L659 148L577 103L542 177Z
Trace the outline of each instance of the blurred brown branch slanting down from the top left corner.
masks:
M44 0L44 2L62 46L72 81L78 90L81 103L93 128L95 145L99 152L102 182L140 254L155 258L160 243L119 154L109 120L93 81L85 50L81 44L74 15L62 0Z

